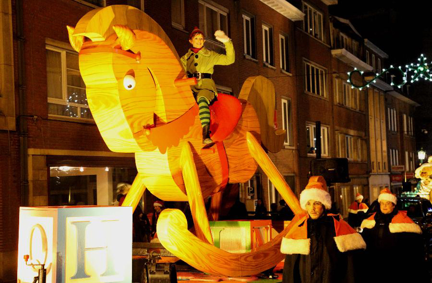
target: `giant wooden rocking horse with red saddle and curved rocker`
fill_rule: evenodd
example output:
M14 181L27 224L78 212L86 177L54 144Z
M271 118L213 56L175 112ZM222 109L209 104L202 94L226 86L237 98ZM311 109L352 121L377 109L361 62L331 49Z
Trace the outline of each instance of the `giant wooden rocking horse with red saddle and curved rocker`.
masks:
M219 95L211 107L211 138L203 148L198 107L171 41L142 11L115 5L87 13L68 27L87 101L106 145L134 152L138 174L123 205L136 208L145 189L165 201L188 201L196 236L179 210L164 210L157 223L162 245L207 273L245 276L282 260L280 242L291 224L256 250L230 253L213 246L204 198L219 207L228 183L248 181L261 166L296 214L299 202L271 162L284 131L272 127L275 93L266 78L248 78L239 99ZM211 215L218 219L218 212Z

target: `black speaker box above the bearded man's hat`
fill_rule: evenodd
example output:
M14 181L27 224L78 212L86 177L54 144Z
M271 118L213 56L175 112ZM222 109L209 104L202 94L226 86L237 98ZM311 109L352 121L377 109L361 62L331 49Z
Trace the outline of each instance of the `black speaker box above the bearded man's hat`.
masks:
M323 176L328 184L351 181L347 158L312 159L310 172L312 176Z

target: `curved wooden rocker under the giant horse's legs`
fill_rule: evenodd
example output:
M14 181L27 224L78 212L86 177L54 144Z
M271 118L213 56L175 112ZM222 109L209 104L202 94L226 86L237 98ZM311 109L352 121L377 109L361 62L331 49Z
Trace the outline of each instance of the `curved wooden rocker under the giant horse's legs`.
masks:
M201 241L187 230L184 214L176 209L166 209L161 213L157 231L159 240L168 251L196 269L234 277L254 275L280 262L284 257L280 253L280 242L291 227L300 224L298 221L296 215L272 241L244 254L230 253Z

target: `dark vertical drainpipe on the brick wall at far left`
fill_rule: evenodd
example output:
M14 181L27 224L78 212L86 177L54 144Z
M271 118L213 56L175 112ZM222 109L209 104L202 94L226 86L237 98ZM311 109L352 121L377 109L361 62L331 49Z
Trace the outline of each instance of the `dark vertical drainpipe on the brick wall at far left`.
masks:
M21 206L29 205L29 173L28 173L28 147L27 147L27 118L26 118L26 72L24 60L24 23L23 0L16 0L17 21L17 58L18 58L18 128L20 136L20 164L21 164Z

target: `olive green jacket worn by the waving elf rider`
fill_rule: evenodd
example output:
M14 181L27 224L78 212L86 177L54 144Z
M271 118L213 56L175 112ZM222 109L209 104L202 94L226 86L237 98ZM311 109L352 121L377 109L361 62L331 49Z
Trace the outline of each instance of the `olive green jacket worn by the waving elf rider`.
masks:
M234 52L233 42L229 40L224 44L227 55L210 51L205 47L202 47L196 54L189 49L189 51L180 59L186 74L189 75L194 72L212 74L214 65L230 65L234 63L236 55ZM199 79L198 83L192 87L192 91L194 92L198 92L201 89L208 89L217 93L216 85L211 78Z

